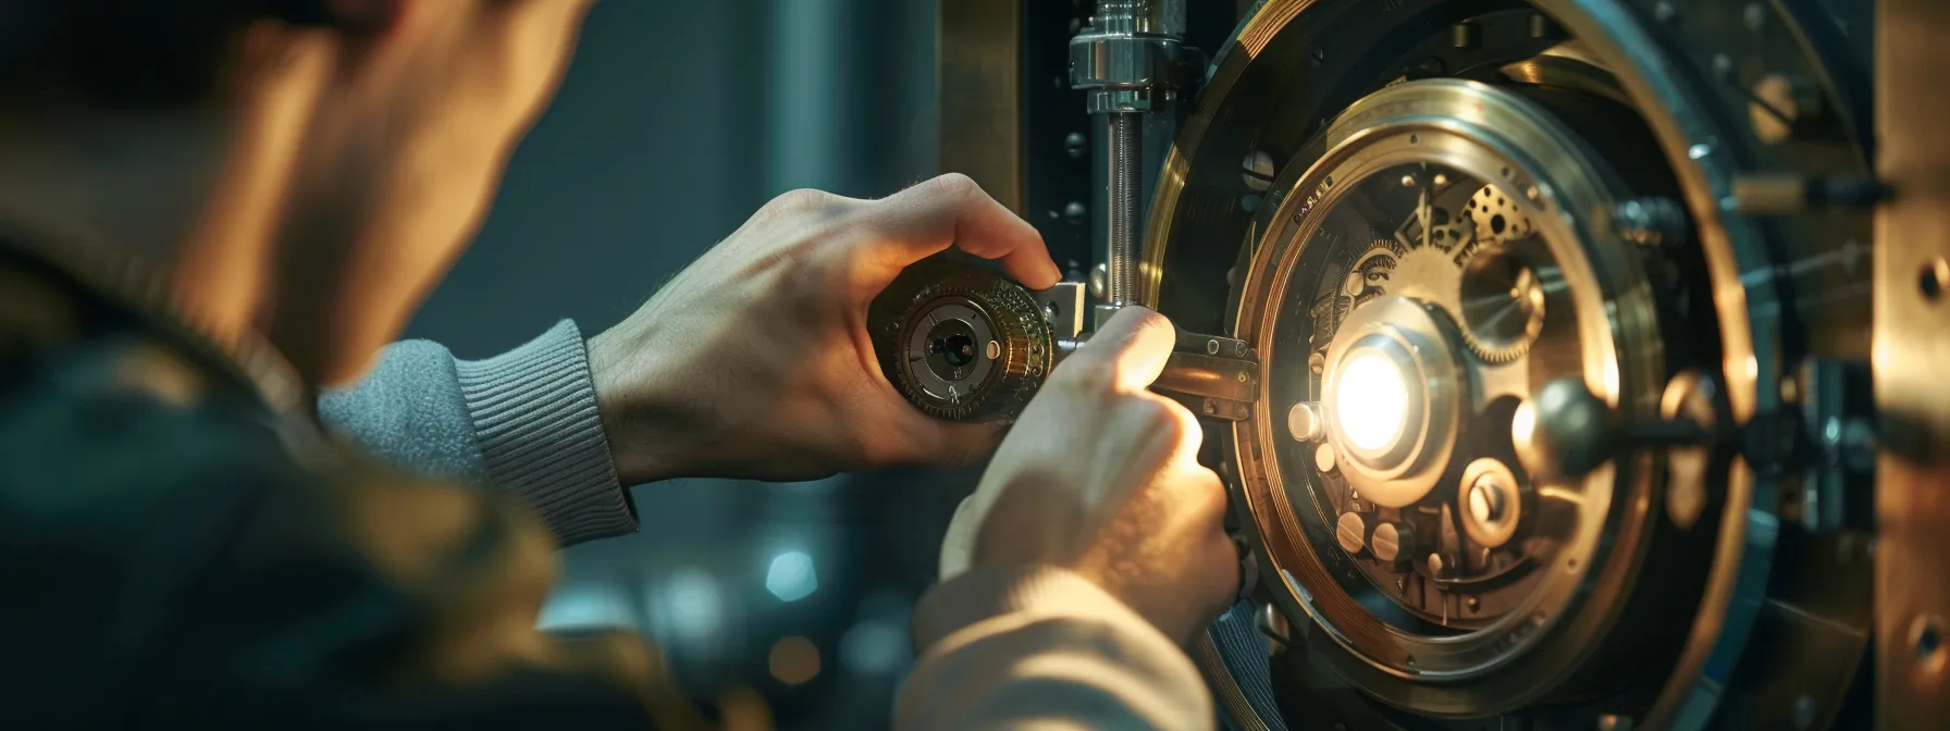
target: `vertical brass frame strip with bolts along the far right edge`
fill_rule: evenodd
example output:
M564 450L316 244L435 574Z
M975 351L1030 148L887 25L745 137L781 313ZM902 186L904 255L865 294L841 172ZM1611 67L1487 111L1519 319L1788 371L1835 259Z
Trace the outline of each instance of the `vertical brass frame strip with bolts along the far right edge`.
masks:
M1950 729L1950 4L1880 0L1876 220L1876 706L1884 729Z

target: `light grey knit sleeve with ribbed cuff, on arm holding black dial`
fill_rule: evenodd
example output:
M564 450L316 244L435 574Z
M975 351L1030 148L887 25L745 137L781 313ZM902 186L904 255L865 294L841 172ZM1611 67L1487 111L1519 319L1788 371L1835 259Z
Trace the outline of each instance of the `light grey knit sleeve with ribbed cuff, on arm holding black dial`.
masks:
M402 468L523 495L564 546L636 530L569 320L486 361L394 343L363 384L320 398L318 413Z

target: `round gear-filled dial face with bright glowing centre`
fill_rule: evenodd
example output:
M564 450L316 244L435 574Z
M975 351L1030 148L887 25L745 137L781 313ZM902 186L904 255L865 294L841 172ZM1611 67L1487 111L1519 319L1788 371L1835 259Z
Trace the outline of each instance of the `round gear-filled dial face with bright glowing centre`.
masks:
M1281 439L1275 454L1295 515L1324 526L1310 540L1330 571L1369 612L1408 632L1466 632L1521 610L1556 552L1548 530L1533 530L1540 517L1509 441L1519 400L1496 386L1529 380L1523 355L1542 333L1552 271L1509 195L1437 164L1353 181L1326 211L1310 212L1318 226L1279 294L1268 365L1275 413L1326 404L1328 419L1344 421L1340 439L1359 442L1363 433L1406 429L1371 425L1402 413L1402 398L1449 398L1447 407L1459 411L1453 431L1427 437L1453 450L1441 452L1445 460L1429 468L1439 474L1435 487L1412 505L1361 495L1363 483L1377 495L1388 487L1375 470L1355 474L1349 446L1359 452L1363 444L1316 433ZM1441 333L1410 351L1453 359L1455 372L1466 374L1455 388L1404 384L1398 376L1414 368L1377 366L1359 349L1330 357L1344 326L1363 322L1355 318L1361 308L1402 298L1427 310ZM1338 380L1332 394L1330 380Z

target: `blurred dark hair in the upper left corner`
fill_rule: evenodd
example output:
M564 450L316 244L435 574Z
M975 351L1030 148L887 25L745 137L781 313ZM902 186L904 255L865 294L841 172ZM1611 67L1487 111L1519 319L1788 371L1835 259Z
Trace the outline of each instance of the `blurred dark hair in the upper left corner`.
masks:
M330 19L326 0L0 0L0 105L168 109L209 99L238 31Z

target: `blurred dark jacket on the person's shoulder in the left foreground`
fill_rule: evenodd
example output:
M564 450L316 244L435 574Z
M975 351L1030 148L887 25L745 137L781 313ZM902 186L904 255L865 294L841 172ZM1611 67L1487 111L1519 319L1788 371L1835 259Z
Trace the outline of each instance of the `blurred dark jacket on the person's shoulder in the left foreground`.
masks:
M0 242L0 725L698 725L651 645L536 630L517 497L324 437L152 285Z

